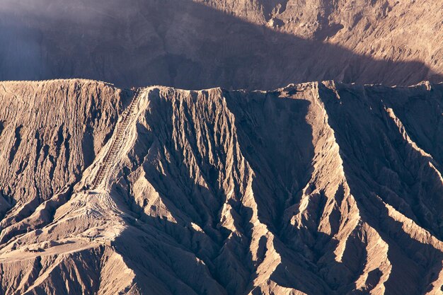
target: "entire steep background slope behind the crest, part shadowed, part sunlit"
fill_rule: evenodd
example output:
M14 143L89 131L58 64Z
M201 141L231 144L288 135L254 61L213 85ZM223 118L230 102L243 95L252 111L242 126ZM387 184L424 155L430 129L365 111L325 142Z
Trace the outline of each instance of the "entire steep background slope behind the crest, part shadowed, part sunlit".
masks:
M252 90L441 82L442 14L429 0L3 0L0 79Z

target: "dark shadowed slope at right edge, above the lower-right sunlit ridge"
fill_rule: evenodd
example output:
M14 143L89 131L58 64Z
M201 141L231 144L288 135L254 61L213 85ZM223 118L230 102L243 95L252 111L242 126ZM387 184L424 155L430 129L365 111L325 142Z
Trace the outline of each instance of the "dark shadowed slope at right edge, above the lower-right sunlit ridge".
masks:
M340 149L352 169L349 174L360 173L362 185L369 185L372 192L398 212L442 239L443 190L437 185L437 171L441 170L438 151L442 149L437 142L443 127L438 122L442 110L439 88L425 91L422 87L340 86L340 100L347 107L343 108L337 100L325 101L332 117L330 125L336 130ZM325 98L335 96L330 89L321 91ZM401 121L396 123L387 108L393 108L391 114ZM417 147L402 132L413 136ZM434 144L428 144L430 140ZM430 147L427 150L432 156L422 154L420 147Z

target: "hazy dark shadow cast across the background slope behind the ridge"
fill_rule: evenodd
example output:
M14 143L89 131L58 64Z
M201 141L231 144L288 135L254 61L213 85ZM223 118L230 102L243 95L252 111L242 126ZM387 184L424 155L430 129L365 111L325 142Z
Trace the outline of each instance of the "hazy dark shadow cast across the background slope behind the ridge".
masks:
M80 77L125 87L191 89L270 89L329 79L388 85L443 80L422 62L375 60L190 0L11 6L0 10L1 80ZM339 25L318 37L336 30Z

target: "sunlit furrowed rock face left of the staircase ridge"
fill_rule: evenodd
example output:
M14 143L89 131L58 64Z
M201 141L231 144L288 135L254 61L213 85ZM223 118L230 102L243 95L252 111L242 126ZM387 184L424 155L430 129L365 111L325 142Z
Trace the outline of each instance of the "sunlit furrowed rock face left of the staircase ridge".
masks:
M129 96L95 81L0 83L2 241L11 226L26 231L29 224L20 221L39 205L51 208L66 199Z

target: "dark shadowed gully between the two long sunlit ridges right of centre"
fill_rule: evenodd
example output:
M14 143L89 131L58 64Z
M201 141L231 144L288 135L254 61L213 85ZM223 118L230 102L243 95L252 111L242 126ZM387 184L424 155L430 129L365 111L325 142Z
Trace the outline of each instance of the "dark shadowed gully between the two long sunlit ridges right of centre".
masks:
M288 234L284 221L285 209L299 202L299 192L313 170L313 131L306 122L311 102L307 98L292 97L295 93L297 90L293 88L272 93L224 91L224 98L236 118L241 154L254 172L252 189L258 219L275 236L272 243L282 259L275 270L277 274L272 274L270 279L306 294L330 294L323 275L312 267L316 262L308 261L301 249L294 247L294 240L288 238L291 233ZM320 236L318 241L326 244ZM301 235L297 242L309 244ZM261 262L263 260L258 263ZM256 271L243 294L250 291L261 294L260 289L253 290Z

